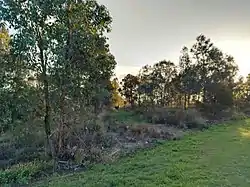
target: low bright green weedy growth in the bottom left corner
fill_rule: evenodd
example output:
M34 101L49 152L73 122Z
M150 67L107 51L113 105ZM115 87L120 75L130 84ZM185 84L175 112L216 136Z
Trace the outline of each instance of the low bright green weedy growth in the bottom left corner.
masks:
M39 177L44 171L52 169L51 163L34 161L18 164L0 171L0 184L28 184L32 179Z

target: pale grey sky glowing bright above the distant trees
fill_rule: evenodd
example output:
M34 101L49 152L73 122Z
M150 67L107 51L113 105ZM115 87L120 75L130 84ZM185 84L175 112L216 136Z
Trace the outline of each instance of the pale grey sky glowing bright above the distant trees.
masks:
M136 74L160 60L178 63L183 46L199 34L232 55L250 73L249 0L98 0L113 18L108 34L116 76Z

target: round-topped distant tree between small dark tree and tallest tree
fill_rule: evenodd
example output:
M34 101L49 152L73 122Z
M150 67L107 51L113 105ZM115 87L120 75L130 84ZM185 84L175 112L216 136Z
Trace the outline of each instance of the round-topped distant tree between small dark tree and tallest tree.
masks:
M153 66L144 66L139 72L137 88L139 104L170 106L176 94L177 69L171 61L160 61Z

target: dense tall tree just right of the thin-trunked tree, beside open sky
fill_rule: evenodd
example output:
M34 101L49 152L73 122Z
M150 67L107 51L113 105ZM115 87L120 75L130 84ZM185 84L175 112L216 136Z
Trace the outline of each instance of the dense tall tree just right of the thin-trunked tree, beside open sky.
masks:
M104 36L110 31L112 21L106 7L96 1L72 0L65 5L60 9L60 25L54 34L60 45L56 46L59 58L52 71L60 103L59 152L65 146L65 137L60 132L70 128L67 110L72 107L69 106L75 106L73 110L78 112L88 107L89 111L94 108L99 113L110 101L109 82L116 65ZM61 32L63 38L58 37Z

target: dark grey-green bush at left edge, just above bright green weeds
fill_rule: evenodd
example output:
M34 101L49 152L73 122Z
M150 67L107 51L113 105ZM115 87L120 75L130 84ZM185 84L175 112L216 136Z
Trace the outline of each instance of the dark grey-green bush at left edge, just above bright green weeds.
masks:
M31 162L41 158L44 153L44 136L38 128L12 128L2 134L0 141L0 168L8 168L17 163Z

